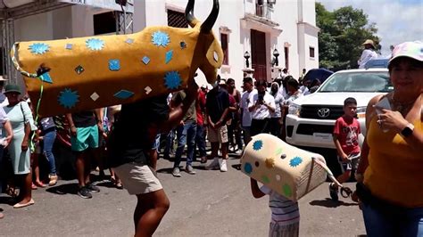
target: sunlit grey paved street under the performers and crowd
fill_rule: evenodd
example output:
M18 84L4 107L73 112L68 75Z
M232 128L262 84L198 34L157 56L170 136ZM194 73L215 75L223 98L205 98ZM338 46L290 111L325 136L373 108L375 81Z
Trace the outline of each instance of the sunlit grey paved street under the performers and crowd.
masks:
M209 161L210 162L210 161ZM239 159L231 159L237 164ZM185 162L183 162L185 165ZM159 177L170 197L170 210L155 236L267 236L268 198L254 200L249 179L235 168L227 173L201 169L195 176L170 175L171 163L159 160ZM95 174L95 173L93 173ZM2 194L1 236L131 236L136 199L128 192L98 184L101 192L84 200L76 195L77 182L60 181L53 188L34 192L36 204L13 209ZM353 184L347 184L352 187ZM300 200L301 236L356 236L364 234L361 212L352 200L338 204L328 200L328 184L322 184Z

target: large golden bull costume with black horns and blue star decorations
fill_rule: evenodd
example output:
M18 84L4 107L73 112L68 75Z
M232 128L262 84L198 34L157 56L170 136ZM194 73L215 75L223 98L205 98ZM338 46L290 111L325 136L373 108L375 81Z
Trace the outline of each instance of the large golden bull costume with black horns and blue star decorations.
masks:
M12 61L25 76L31 100L41 98L38 114L46 117L168 94L187 86L196 69L212 84L223 61L211 32L219 1L213 0L203 24L194 17L194 3L189 0L186 9L192 29L159 26L131 35L15 43Z

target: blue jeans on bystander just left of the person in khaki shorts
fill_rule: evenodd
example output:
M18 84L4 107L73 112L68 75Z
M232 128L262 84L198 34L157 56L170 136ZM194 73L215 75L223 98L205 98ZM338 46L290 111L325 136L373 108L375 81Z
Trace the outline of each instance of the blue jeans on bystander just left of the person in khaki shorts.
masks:
M184 126L176 128L178 148L175 154L173 168L178 168L182 159L182 152L187 144L187 166L192 166L195 150L195 134L197 130L196 122L186 122Z

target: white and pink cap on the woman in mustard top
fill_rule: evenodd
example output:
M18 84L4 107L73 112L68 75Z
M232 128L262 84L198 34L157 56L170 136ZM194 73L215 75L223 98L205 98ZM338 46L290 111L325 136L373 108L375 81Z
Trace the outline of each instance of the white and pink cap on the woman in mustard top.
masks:
M417 61L423 61L423 43L420 41L414 41L396 45L392 51L392 57L388 62L388 67L392 61L399 57L407 57Z

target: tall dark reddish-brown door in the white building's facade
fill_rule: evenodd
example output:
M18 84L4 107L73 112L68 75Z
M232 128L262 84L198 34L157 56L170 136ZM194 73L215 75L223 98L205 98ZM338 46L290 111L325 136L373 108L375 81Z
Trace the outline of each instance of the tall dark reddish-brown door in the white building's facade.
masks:
M254 78L267 80L266 72L266 33L251 30L251 55L254 69Z

